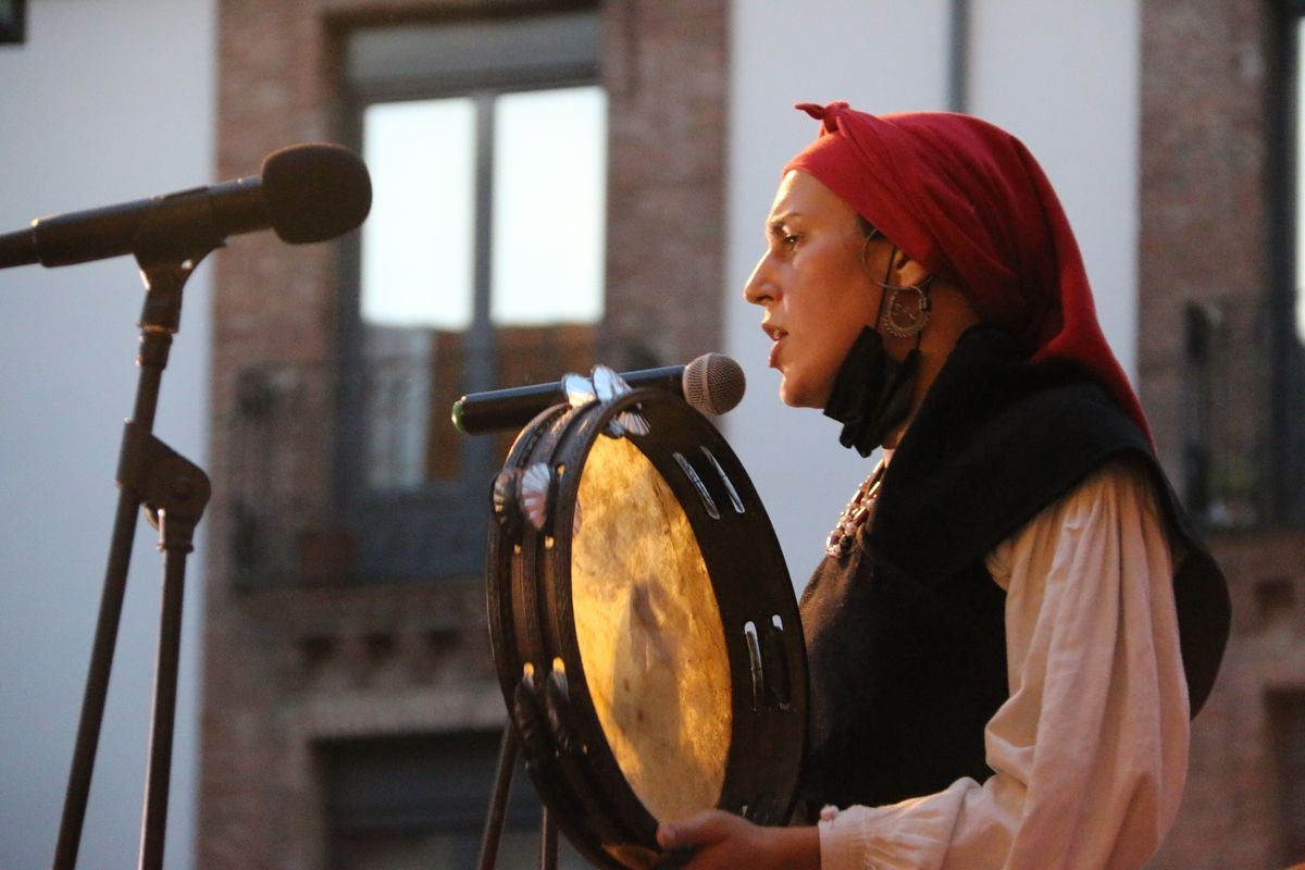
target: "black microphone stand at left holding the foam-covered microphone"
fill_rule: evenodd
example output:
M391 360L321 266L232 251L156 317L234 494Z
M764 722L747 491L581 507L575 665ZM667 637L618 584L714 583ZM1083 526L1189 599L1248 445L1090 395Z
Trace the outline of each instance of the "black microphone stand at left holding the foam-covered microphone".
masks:
M197 207L206 207L198 203ZM175 215L174 215L175 219ZM193 226L177 220L174 227ZM176 683L181 647L181 603L185 557L194 549L194 528L209 501L209 477L153 434L159 386L167 367L172 335L181 320L181 290L194 266L222 239L172 237L168 227L146 226L134 243L136 260L145 282L141 313L141 348L137 355L140 378L132 419L123 432L117 466L117 513L110 544L104 590L100 599L95 640L91 647L82 698L81 721L68 775L55 870L73 870L81 844L82 823L90 794L95 751L108 694L114 647L123 612L127 573L136 535L137 510L144 507L159 531L163 553L163 591L159 617L158 659L154 674L153 719L150 723L149 767L141 823L141 870L163 866L163 836L167 827L167 801L171 779L172 734L176 720ZM193 230L191 231L193 236Z

